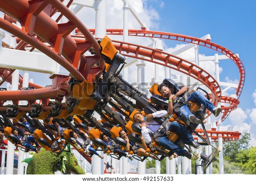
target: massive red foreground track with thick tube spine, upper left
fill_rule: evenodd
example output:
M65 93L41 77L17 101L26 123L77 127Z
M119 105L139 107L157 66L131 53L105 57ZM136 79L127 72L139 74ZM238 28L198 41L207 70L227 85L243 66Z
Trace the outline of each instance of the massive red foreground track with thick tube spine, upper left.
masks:
M100 53L99 44L84 24L61 1L20 0L13 3L10 0L1 0L0 10L18 20L22 26L20 29L9 21L0 18L0 28L22 40L16 49L21 49L26 44L30 44L61 64L70 72L70 76L75 77L78 81L91 80L90 75L92 74L101 75L105 63ZM50 16L57 11L66 16L69 22L55 22ZM81 30L85 38L79 43L76 43L70 36L70 32L76 27ZM42 41L46 41L52 49ZM85 57L84 52L91 48L93 48L96 55ZM93 67L96 63L99 66ZM28 100L29 98L38 99L38 97L39 99L55 98L55 90L59 90L63 78L57 76L53 80L58 83L47 89L23 90L20 91L19 97L17 95L15 97L11 91L5 93L0 91L0 96L4 96L4 99L7 100ZM46 95L38 96L39 93L45 92ZM62 96L64 95L65 93Z

